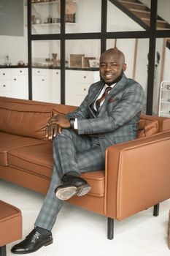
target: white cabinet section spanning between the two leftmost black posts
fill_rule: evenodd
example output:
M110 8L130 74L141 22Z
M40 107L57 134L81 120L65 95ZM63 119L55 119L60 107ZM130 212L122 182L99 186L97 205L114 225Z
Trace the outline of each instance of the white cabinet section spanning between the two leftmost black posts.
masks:
M32 99L42 102L61 102L60 69L32 69Z

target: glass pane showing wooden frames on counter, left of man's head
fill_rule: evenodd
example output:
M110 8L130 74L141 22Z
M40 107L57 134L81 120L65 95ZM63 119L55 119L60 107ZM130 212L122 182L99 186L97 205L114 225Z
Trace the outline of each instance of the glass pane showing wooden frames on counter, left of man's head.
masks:
M100 80L100 40L66 41L66 105L80 105L92 83Z

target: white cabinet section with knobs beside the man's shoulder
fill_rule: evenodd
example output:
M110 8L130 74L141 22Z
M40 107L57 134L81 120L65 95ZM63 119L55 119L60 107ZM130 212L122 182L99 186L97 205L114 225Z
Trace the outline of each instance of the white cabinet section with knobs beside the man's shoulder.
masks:
M79 106L90 85L99 80L98 71L66 70L66 105Z

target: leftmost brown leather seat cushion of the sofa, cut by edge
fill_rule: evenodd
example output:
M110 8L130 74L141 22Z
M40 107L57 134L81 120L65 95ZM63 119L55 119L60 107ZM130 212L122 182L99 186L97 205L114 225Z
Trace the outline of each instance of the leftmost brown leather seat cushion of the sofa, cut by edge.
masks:
M8 165L8 151L22 148L23 146L31 146L44 143L44 140L34 138L26 138L18 135L10 135L0 132L0 165Z

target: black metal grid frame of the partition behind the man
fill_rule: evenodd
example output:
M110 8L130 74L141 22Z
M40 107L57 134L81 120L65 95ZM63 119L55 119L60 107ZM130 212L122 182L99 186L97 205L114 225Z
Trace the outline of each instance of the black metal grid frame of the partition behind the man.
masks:
M65 4L61 1L61 33L60 34L31 34L31 0L28 1L28 84L29 99L32 99L32 72L31 72L31 41L33 40L60 40L61 42L61 104L65 104L65 51L67 39L100 39L101 53L106 50L107 39L130 39L148 38L149 44L149 63L147 78L147 108L146 113L152 115L152 101L154 89L155 72L155 42L158 37L170 37L170 30L156 30L158 0L151 0L150 29L146 31L119 31L107 32L107 0L101 0L101 32L98 33L77 33L66 34L65 32ZM115 4L117 0L109 0Z

